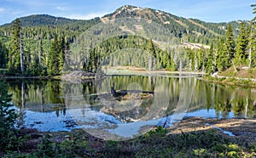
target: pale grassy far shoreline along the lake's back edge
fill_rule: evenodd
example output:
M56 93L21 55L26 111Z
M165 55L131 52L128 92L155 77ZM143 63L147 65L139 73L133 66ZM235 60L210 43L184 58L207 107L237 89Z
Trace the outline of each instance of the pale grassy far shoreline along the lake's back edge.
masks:
M84 71L86 72L86 71ZM148 71L143 68L138 68L134 66L114 66L109 67L107 74L105 76L154 76L154 75L163 75L163 74L177 74L181 76L202 76L201 80L206 82L216 82L220 84L225 84L229 86L240 86L240 87L256 87L255 78L246 78L246 77L236 77L236 76L218 76L217 74L207 75L204 72L195 72L195 71ZM67 82L77 82L77 81L91 81L96 79L96 74L94 76L67 76L63 74L61 76L4 76L1 75L0 79L49 79L49 80L64 80Z

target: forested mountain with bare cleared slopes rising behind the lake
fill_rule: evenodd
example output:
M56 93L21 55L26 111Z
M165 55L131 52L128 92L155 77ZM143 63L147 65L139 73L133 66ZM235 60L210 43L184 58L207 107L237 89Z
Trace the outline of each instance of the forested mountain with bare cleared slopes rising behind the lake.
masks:
M70 20L36 14L21 17L20 21L21 31L20 27L14 27L15 32L21 33L16 34L16 37L12 36L12 24L0 25L0 46L3 46L0 47L0 65L6 68L8 64L15 63L18 65L15 71L20 71L17 48L21 45L26 56L24 59L27 74L32 76L59 75L64 62L63 54L67 55L67 59L74 59L74 62L68 62L68 65L75 70L95 72L102 58L113 52L119 52L121 55L119 59L109 57L108 65L132 65L136 60L138 67L148 65L148 69L152 68L150 66L153 63L149 63L152 60L147 59L146 54L132 52L132 58L136 59L131 59L131 56L124 54L127 52L126 48L149 51L159 61L155 67L171 71L177 68L203 71L207 55L210 54L209 45L213 44L217 50L219 39L224 37L228 25L227 22L211 23L186 19L153 8L138 8L131 5L117 8L112 14L106 14L101 19ZM235 33L234 40L239 33L240 24L239 20L231 22ZM21 40L13 42L14 37L19 39L20 35ZM15 58L9 56L14 48L17 53ZM80 55L82 57L79 57ZM55 66L55 70L52 69L52 65L59 62L55 62L54 59L62 62ZM79 59L83 59L83 62L77 64Z

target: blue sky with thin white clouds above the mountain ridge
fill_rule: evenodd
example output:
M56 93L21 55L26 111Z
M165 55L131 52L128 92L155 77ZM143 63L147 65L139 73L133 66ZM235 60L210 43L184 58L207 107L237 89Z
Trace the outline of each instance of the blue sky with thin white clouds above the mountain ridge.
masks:
M256 0L0 0L0 25L30 14L91 19L125 4L209 22L251 20L253 3Z

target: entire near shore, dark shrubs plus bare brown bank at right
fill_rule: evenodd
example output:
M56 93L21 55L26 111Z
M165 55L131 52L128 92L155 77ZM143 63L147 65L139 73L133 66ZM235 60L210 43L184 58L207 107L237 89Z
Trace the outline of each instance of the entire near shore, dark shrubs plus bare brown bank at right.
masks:
M245 123L247 122L247 123ZM186 118L176 126L155 127L138 138L102 140L82 129L40 133L22 129L18 150L2 151L2 157L255 157L253 120ZM213 126L214 125L214 126ZM241 130L229 136L215 127ZM249 129L249 131L247 131ZM242 133L242 134L239 134Z

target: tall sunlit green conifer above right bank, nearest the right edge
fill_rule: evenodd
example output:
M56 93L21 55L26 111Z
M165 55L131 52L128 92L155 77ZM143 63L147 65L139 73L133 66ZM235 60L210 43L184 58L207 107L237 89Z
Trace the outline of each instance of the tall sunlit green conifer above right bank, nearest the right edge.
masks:
M245 65L248 58L247 54L248 35L245 27L245 23L241 23L240 32L236 41L236 65Z

